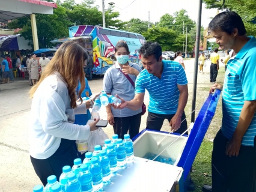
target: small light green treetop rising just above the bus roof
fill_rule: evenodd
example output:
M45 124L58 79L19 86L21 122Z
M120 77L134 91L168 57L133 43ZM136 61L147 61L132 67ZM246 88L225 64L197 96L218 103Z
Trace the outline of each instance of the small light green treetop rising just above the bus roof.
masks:
M136 32L142 34L148 30L148 22L140 19L132 18L127 22L125 28L126 31Z

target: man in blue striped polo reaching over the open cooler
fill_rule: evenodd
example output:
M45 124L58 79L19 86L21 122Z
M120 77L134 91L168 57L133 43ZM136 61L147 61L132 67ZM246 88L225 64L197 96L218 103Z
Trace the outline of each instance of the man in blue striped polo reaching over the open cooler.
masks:
M168 119L172 131L187 130L184 107L187 104L187 78L183 67L175 61L162 60L162 48L158 43L148 41L139 50L144 70L135 82L135 97L125 101L121 108L138 110L143 103L145 89L150 95L147 128L160 130L164 119Z

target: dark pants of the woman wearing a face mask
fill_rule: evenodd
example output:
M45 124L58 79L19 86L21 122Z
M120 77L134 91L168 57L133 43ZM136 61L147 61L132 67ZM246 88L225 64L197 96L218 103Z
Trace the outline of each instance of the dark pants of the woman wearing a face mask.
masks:
M141 113L133 116L127 116L125 118L114 117L114 133L118 134L118 138L124 139L124 134L127 134L129 130L130 139L139 133L139 127L141 125Z

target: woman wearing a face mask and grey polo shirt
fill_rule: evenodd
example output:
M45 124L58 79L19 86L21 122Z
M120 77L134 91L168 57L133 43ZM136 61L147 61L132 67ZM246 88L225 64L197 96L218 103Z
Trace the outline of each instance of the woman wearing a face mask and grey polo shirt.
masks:
M141 72L141 68L137 64L129 62L129 48L125 41L118 41L115 46L115 58L113 66L109 68L103 79L103 90L108 95L115 96L118 94L124 100L132 100L135 96L135 89L133 88L126 75L135 82L136 76ZM126 69L123 66L126 65ZM124 139L124 134L129 130L130 138L139 133L139 126L141 125L141 112L142 110L114 109L113 107L106 106L108 113L108 122L113 125L114 133L118 137Z

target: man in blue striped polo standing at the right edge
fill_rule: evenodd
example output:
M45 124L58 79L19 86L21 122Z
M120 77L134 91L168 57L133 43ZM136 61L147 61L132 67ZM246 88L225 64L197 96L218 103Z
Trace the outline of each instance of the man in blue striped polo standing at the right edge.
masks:
M212 153L212 187L203 191L256 191L256 39L246 36L241 17L224 11L210 22L216 43L233 49L222 89L222 127L216 134Z

